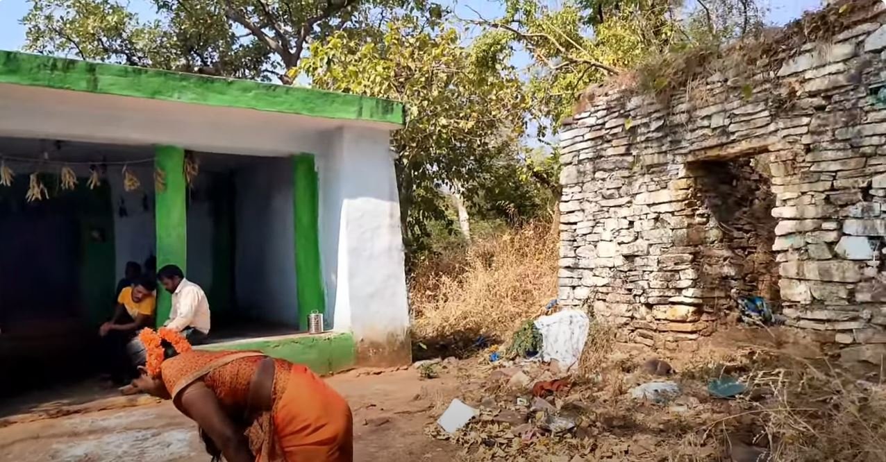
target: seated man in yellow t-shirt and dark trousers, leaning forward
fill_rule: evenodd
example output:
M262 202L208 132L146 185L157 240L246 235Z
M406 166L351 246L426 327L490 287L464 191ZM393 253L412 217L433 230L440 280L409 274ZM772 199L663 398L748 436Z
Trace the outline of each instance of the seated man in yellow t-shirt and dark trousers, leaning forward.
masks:
M157 307L155 290L157 282L147 277L141 277L131 287L120 290L113 318L98 329L98 335L102 337L105 371L117 384L128 383L136 376L129 362L126 344L139 330L154 324L154 310Z

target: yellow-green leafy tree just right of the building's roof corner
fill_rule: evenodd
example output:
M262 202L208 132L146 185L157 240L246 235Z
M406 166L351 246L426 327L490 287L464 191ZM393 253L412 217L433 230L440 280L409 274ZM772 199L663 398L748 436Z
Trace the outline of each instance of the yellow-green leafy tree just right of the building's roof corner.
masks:
M446 12L389 19L380 40L345 33L314 42L299 71L315 87L403 101L407 126L395 133L397 178L408 247L420 249L428 223L447 220L441 191L470 203L485 174L518 161L528 104L505 37L470 46Z

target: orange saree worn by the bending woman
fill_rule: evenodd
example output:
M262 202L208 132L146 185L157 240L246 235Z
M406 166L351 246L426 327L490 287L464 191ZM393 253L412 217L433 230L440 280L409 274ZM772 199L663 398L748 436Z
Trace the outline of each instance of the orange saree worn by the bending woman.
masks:
M202 379L228 409L245 410L262 353L193 350L163 361L163 381L175 397ZM344 398L307 367L275 360L273 405L246 431L256 462L350 462L353 421Z

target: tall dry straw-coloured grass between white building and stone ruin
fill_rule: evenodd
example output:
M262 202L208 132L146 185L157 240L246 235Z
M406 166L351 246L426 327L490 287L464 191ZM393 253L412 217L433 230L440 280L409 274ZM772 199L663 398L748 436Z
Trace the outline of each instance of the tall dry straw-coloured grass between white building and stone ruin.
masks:
M538 222L420 264L409 284L416 340L507 340L556 297L557 242Z

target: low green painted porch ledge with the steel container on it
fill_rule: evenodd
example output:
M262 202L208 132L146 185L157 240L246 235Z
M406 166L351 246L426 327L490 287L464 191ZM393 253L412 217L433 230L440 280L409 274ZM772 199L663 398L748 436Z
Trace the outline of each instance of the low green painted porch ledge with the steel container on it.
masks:
M356 363L356 344L350 333L282 335L200 345L198 350L258 350L269 357L303 364L318 374L344 371Z

